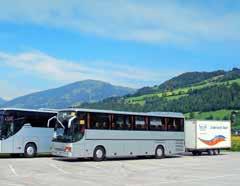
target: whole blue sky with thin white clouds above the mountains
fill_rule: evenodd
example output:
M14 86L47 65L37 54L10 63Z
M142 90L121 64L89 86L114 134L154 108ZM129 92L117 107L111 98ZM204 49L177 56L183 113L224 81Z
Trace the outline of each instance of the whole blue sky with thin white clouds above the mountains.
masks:
M238 0L0 0L0 97L240 65Z

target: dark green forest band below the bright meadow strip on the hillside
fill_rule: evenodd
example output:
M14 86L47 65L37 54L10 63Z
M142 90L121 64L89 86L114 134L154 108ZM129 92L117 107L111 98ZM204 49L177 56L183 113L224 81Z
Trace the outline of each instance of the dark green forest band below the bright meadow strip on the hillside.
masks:
M177 95L175 95L177 96ZM171 111L171 112L205 112L219 109L240 109L240 85L238 83L222 84L202 89L190 89L186 96L178 99L166 99L153 96L145 99L145 104L129 104L124 97L109 98L98 103L84 103L81 107L95 109L112 109L127 111Z

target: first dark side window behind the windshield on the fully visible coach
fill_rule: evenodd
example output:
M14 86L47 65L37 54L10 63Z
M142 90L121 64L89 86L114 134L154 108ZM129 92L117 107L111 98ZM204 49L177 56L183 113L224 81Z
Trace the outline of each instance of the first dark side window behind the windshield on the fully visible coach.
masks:
M90 128L91 129L109 129L109 115L103 113L90 114Z

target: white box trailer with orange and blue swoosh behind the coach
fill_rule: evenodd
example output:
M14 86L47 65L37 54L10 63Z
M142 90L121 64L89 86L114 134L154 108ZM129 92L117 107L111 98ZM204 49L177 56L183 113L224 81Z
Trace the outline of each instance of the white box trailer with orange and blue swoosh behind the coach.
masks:
M185 148L193 155L207 152L220 154L221 149L231 148L230 121L185 121Z

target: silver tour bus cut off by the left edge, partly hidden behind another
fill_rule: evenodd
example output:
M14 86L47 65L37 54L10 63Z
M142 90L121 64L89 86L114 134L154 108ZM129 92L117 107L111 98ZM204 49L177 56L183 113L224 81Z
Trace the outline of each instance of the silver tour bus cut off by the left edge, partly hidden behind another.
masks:
M48 124L48 120L56 114L56 111L0 108L0 154L25 157L51 154L55 123Z

